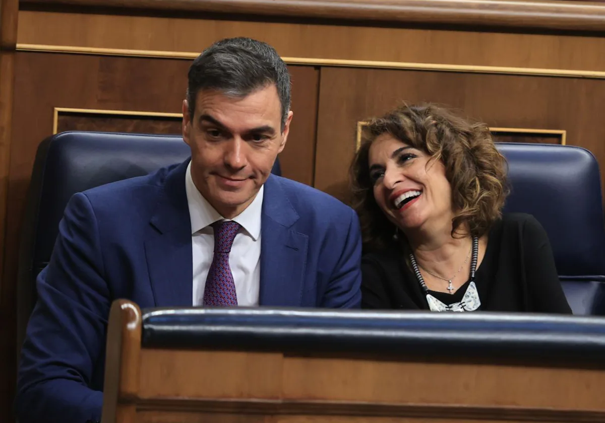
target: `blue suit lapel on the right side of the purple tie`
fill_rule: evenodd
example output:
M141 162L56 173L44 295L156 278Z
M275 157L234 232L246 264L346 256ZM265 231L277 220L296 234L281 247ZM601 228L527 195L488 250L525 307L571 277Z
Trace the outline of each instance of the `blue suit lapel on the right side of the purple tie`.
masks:
M259 303L301 306L309 236L291 228L299 216L277 176L265 182L261 219Z

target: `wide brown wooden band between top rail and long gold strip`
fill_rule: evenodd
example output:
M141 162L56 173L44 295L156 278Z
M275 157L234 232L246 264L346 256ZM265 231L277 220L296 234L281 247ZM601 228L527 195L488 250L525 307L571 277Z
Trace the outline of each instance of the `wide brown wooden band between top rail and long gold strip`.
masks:
M284 57L605 71L605 37L197 18L22 10L18 42L198 52L237 34Z

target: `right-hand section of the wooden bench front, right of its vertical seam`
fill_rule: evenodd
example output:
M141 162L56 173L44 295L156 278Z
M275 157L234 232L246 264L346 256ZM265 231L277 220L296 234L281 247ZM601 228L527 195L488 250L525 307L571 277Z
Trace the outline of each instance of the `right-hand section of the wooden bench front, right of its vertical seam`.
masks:
M605 386L601 370L573 369L572 364L566 369L489 361L286 357L282 398L605 411L600 393L590 393Z

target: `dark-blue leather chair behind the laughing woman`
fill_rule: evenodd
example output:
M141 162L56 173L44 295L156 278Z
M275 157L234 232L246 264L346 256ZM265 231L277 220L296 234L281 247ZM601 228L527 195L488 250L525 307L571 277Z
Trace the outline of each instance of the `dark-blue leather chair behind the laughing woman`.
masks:
M534 215L551 241L574 314L605 315L605 223L597 160L558 144L498 143L508 160L505 212Z

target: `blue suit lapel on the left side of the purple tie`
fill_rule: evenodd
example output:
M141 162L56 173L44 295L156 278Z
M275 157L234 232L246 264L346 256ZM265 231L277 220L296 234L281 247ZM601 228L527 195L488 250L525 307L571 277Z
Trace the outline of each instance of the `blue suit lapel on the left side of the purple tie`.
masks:
M145 254L155 306L193 304L191 219L185 191L189 161L166 176L162 199L151 219Z

